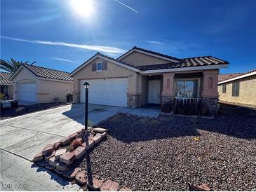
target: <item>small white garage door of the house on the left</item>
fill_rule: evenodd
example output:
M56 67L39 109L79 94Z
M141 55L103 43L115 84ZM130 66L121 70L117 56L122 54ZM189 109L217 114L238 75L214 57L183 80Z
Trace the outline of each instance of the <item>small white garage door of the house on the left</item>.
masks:
M20 84L20 100L25 102L36 102L36 83Z

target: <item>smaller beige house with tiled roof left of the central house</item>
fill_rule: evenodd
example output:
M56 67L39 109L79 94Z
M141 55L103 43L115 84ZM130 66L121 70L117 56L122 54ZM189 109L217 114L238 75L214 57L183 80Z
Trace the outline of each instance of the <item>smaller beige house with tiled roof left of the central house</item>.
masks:
M22 64L11 76L13 99L36 102L65 102L67 94L72 94L73 78L65 71L58 71L31 64Z

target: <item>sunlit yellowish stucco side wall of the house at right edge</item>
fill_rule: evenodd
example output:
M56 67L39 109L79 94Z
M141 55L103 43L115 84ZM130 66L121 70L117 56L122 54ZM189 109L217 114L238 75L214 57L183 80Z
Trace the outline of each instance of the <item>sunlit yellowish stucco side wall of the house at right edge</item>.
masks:
M222 85L218 86L219 99L222 102L231 102L237 104L251 104L256 106L256 76L250 76L248 78L241 78L237 80L240 82L239 85L239 96L232 96L232 82L226 84L226 93L222 93ZM236 82L237 82L236 81Z

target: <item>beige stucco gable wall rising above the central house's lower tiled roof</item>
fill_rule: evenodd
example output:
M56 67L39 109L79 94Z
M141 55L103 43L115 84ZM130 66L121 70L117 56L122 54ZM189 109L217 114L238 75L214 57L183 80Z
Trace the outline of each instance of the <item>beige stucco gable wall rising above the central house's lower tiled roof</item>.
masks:
M144 55L142 53L133 52L130 53L130 55L127 55L126 57L123 57L121 59L122 62L127 62L129 64L133 64L135 66L138 65L149 65L149 64L163 64L168 63L170 61L168 60L162 60L157 57L152 57L150 55Z

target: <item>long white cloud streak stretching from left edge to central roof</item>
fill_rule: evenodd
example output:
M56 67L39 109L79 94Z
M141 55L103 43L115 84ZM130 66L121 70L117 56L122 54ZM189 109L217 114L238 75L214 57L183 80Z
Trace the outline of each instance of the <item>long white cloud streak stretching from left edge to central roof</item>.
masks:
M102 51L105 53L116 53L116 54L126 53L126 50L123 50L121 48L109 47L109 46L82 45L82 44L75 44L75 43L65 43L65 42L61 42L61 41L29 40L29 39L19 39L19 38L9 37L9 36L1 36L1 38L13 40L13 41L20 41L20 42L26 42L26 43L37 43L37 44L43 44L43 45L49 45L49 46L67 46L67 47L72 47L72 48L97 50L97 51Z

